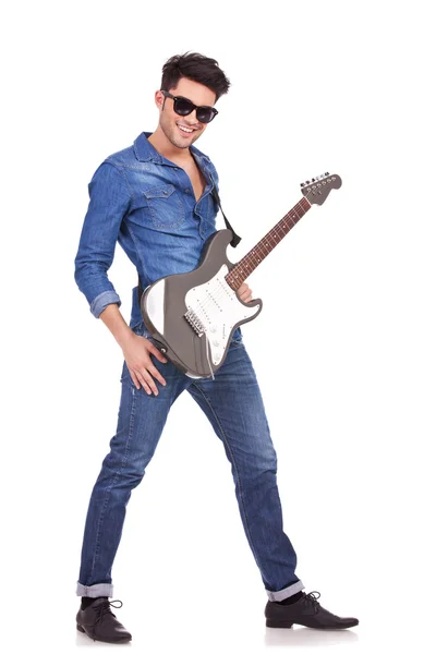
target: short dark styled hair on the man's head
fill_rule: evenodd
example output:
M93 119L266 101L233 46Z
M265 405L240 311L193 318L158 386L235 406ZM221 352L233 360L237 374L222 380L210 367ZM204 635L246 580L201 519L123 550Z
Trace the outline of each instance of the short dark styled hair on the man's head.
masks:
M171 57L164 64L160 88L162 90L173 88L179 84L181 77L204 84L215 93L216 100L230 87L230 81L218 66L218 61L198 52L185 52Z

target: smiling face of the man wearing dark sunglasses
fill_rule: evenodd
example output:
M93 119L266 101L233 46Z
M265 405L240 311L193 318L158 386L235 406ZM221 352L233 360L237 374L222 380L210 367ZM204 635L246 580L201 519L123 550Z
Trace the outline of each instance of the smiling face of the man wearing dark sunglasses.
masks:
M186 77L182 77L174 88L169 90L174 96L183 96L194 105L213 107L215 104L215 93ZM161 110L165 100L164 111ZM160 109L159 125L167 136L168 141L175 147L190 147L205 131L207 123L201 123L197 120L195 109L189 116L179 116L174 111L174 100L165 98L160 92L156 94L156 101Z

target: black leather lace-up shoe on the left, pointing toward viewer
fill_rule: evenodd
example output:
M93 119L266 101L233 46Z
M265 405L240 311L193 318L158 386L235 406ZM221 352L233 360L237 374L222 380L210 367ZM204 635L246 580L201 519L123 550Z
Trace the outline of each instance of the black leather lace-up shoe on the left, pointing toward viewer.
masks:
M116 606L114 602L120 602L120 606ZM132 634L110 610L111 606L121 608L121 600L112 603L107 597L98 597L88 607L81 607L76 615L77 630L104 643L126 643L132 640Z

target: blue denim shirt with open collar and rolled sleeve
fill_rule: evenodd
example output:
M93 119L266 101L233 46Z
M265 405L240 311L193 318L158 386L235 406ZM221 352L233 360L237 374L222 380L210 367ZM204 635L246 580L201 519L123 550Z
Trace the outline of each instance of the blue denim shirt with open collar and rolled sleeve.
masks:
M121 306L108 269L117 241L134 264L143 289L160 277L198 266L204 242L216 230L213 184L218 174L209 157L191 146L206 180L198 202L187 173L169 161L143 132L133 146L105 159L89 184L74 279L98 318L111 303ZM137 284L137 275L136 275ZM137 286L132 290L130 327L142 320Z

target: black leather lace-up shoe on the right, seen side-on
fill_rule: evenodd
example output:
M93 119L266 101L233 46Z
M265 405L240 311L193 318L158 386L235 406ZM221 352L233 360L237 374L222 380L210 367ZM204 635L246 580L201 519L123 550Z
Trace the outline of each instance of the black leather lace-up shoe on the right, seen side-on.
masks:
M269 602L265 607L267 627L290 628L302 625L312 629L348 629L359 625L358 618L339 618L326 610L318 602L319 593L303 593L294 604Z

